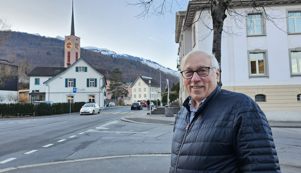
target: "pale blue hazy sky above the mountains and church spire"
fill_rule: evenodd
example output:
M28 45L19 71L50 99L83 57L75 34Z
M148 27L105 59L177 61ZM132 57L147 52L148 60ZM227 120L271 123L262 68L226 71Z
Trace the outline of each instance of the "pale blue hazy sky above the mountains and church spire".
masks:
M13 31L47 37L70 35L72 0L0 0L0 4L0 18ZM126 5L125 0L74 0L75 35L81 37L81 47L105 48L177 70L174 29L178 6L160 18L137 19L142 9Z

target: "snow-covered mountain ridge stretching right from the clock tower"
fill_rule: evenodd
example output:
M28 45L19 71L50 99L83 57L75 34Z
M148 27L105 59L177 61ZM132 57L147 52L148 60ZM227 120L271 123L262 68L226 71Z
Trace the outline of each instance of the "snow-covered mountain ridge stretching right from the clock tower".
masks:
M117 54L116 52L113 52L109 49L100 49L97 47L93 47L93 46L88 46L88 47L82 47L83 49L88 49L91 50L93 52L98 52L104 55L109 55L112 57L116 57L116 58L126 58L126 59L132 59L132 60L136 60L136 61L141 61L143 64L147 64L150 67L153 67L155 69L159 69L165 73L170 73L173 76L179 76L179 72L172 70L170 68L166 68L163 67L162 65L158 64L157 62L148 60L148 59L144 59L144 58L140 58L140 57L136 57L136 56L132 56L132 55L126 55L126 54Z

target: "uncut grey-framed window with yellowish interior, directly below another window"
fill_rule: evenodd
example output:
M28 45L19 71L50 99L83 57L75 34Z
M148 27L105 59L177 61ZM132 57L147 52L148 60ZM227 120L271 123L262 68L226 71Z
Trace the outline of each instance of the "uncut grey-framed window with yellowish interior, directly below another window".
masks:
M250 53L251 75L265 74L265 56L264 53Z

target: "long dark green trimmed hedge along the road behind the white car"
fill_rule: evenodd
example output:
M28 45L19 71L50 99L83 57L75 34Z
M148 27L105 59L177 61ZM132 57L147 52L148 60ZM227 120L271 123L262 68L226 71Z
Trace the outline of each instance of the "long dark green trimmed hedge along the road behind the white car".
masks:
M71 103L71 112L79 112L85 102ZM70 112L70 103L40 103L33 105L33 103L11 103L11 104L0 104L0 113L3 115L17 114L25 115L29 113L35 113L35 116L43 115L57 115L66 114Z

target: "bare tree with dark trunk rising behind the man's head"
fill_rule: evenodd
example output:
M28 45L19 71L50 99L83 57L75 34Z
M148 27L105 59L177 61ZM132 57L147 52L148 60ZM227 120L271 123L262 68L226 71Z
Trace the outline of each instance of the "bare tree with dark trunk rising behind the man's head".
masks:
M166 12L171 12L172 5L177 4L178 7L183 7L183 4L186 4L187 1L185 0L138 0L135 3L128 3L128 5L132 6L139 6L142 8L142 12L137 15L138 18L145 18L151 15L161 16L164 15ZM266 9L271 9L268 4L273 4L273 1L270 0L191 0L189 4L198 4L198 9L194 11L194 13L189 13L187 17L194 17L196 13L199 13L197 16L197 20L192 22L190 25L183 27L186 30L190 28L195 22L202 20L202 15L204 13L209 13L212 17L213 25L209 27L209 25L203 22L203 25L208 28L209 33L206 34L205 37L208 37L211 32L213 31L213 46L212 46L212 53L215 55L217 61L221 63L221 43L222 43L222 33L227 35L235 34L230 27L224 27L224 20L226 19L227 15L231 17L234 23L239 27L246 27L245 20L246 20L246 13L240 12L237 10L238 8L243 8L245 11L250 11L250 13L258 13L264 11L263 17L265 20L272 22L277 28L277 21L283 19L279 16L274 16L273 14L265 13ZM274 2L275 3L275 2ZM279 28L280 30L284 31L283 28ZM177 32L177 31L176 31ZM284 31L287 32L287 31ZM221 69L220 73L222 72ZM222 86L222 81L220 80L218 85Z

